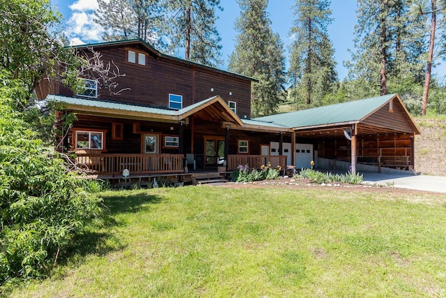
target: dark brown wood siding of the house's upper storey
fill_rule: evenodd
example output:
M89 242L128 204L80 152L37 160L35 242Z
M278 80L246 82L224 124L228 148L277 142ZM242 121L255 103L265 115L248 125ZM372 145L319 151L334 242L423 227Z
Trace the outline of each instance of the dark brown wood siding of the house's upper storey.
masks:
M146 54L146 65L128 62L128 50ZM157 57L137 47L102 48L102 59L113 61L124 77L116 78L118 86L109 91L100 84L98 99L112 100L132 105L149 107L169 107L169 94L183 96L183 107L192 105L206 98L220 95L228 103L237 103L240 118L250 117L251 81L212 70L195 64L187 64L180 59ZM114 66L112 66L113 68ZM123 90L125 89L125 90ZM120 94L114 93L123 90ZM61 87L59 94L74 96L72 91Z

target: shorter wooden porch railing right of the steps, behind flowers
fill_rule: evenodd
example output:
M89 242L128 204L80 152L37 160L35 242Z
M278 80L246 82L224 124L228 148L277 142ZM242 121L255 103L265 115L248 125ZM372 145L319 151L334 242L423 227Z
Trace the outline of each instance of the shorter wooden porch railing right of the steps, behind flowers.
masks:
M286 168L286 156L284 155L229 155L228 170L236 170L239 165L260 169L262 165L268 165L268 162L273 168L277 165L280 165L282 169Z

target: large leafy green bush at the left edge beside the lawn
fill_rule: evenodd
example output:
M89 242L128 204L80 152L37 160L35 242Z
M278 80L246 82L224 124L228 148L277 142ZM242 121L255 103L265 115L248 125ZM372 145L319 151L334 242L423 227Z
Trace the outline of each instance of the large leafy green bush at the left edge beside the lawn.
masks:
M45 151L0 87L0 283L42 276L82 225L95 218L97 186L68 173L60 156Z

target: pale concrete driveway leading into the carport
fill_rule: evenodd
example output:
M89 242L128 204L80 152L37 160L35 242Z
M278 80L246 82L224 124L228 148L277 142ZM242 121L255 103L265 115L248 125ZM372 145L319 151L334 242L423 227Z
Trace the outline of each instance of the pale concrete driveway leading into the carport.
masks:
M446 193L446 177L406 174L383 174L362 172L364 183L393 186L396 188L415 189L417 191L432 191Z

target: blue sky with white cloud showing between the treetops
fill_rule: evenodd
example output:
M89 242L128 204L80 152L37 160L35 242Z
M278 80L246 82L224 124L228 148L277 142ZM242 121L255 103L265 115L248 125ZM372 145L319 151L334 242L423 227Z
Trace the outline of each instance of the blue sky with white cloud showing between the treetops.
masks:
M292 42L289 30L293 23L293 3L294 0L270 0L268 4L272 31L279 33L285 47ZM222 12L218 12L220 19L217 20L217 29L222 37L222 59L224 59L224 65L220 68L226 69L229 54L234 49L236 32L233 28L240 10L236 0L220 0L220 4L224 8ZM96 0L52 0L52 5L62 13L66 27L64 31L73 44L102 41L101 29L92 20L94 10L98 8ZM354 50L353 30L356 24L356 7L356 0L332 0L330 6L334 20L328 27L328 34L334 45L334 59L337 61L339 80L343 80L348 73L343 66L343 61L351 59L348 49ZM288 49L285 50L288 56ZM443 69L440 66L434 72L444 75Z

